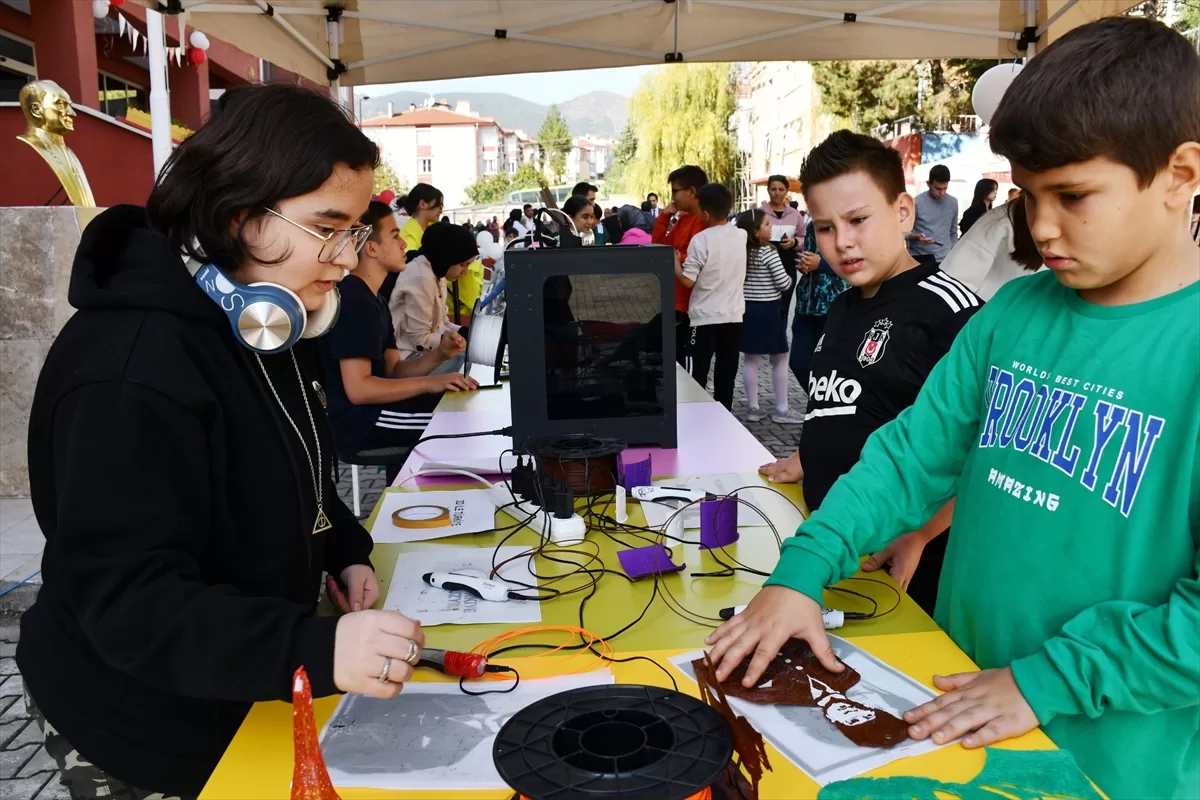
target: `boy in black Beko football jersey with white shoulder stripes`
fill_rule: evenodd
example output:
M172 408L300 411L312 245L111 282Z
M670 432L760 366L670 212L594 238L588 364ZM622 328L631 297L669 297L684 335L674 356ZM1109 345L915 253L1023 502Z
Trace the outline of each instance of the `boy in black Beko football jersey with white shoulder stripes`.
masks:
M829 307L808 375L809 407L799 450L763 465L773 482L804 480L816 510L834 481L858 462L868 437L917 399L934 365L983 306L937 266L905 249L913 199L900 155L866 136L839 131L800 170L821 254L851 288ZM920 530L864 564L889 566L896 582L934 613L954 500Z

